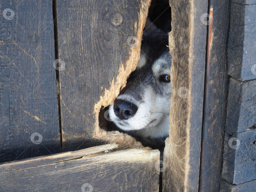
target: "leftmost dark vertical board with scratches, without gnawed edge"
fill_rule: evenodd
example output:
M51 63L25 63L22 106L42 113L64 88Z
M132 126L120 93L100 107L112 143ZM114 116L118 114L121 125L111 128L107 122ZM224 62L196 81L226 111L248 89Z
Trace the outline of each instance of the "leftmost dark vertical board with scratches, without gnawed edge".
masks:
M0 162L58 153L52 3L4 1L0 10Z

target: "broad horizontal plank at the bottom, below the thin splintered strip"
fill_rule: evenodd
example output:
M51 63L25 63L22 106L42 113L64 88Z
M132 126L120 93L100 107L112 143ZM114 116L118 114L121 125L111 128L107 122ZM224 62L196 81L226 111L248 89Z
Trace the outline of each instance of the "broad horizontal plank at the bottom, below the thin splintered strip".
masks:
M158 150L127 149L4 172L0 191L158 192L159 155Z

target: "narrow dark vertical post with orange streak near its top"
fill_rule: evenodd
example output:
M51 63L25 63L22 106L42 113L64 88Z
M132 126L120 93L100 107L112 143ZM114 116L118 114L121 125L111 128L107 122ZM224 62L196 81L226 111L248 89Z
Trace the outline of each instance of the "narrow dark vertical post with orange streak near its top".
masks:
M200 191L219 192L228 98L229 0L209 1Z

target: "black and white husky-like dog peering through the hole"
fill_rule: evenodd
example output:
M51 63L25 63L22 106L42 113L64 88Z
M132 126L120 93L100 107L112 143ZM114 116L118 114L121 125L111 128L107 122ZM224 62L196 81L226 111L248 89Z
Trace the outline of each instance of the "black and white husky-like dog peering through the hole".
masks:
M164 146L169 136L172 57L167 45L168 34L147 19L138 65L108 108L119 131L152 148Z

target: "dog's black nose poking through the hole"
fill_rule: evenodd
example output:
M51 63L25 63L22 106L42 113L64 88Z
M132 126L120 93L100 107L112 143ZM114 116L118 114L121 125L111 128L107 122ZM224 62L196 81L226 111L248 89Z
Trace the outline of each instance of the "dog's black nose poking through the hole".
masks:
M137 110L137 105L131 102L124 101L121 99L116 99L114 102L114 112L116 116L119 117L121 120L133 117Z

